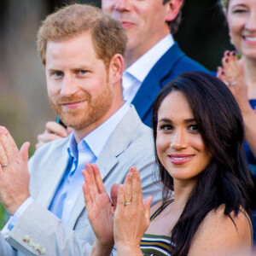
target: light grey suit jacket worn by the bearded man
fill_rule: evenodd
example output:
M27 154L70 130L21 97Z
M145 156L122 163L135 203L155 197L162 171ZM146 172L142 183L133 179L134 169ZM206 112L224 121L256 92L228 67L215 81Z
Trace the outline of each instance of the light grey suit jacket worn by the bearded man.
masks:
M49 204L67 166L68 137L47 143L39 148L29 162L31 172L30 191L32 203L10 232L9 244L25 255L39 255L35 249L23 241L24 236L46 249L46 255L79 256L89 255L94 241L93 230L84 207L82 193L76 201L68 227L52 212ZM161 189L154 183L154 143L152 131L143 125L134 107L121 120L102 153L96 160L102 179L109 193L113 183L124 183L131 166L136 166L141 173L143 197L154 195L154 203L160 201ZM0 239L0 242L3 239ZM9 250L9 245L0 244L1 252ZM12 254L17 255L15 251ZM22 255L18 253L18 255Z

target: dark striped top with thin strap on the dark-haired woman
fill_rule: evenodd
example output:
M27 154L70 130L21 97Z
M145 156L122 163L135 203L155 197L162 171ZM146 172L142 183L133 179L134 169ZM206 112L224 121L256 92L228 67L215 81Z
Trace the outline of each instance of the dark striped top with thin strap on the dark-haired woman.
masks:
M167 201L164 207L161 209L159 207L156 212L151 216L150 221L152 221L160 212L169 206L173 199ZM169 236L158 236L158 235L149 235L144 234L143 239L141 240L141 249L143 255L147 256L166 256L171 255L172 250L170 251L171 238ZM172 244L173 246L173 244Z

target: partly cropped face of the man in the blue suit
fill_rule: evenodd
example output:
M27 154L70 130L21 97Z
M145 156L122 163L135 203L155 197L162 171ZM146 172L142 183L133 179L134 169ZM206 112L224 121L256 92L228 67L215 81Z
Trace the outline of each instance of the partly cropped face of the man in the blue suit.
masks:
M128 36L127 51L143 55L170 33L163 0L102 0L102 10L119 20Z

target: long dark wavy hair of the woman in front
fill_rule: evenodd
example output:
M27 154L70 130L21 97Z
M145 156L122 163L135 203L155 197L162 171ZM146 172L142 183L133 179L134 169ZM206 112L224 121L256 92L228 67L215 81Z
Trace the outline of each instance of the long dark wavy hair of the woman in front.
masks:
M154 102L154 142L157 137L158 110L172 91L180 91L186 96L202 140L212 154L211 162L199 174L198 183L172 230L171 239L175 246L170 245L170 248L172 256L177 256L189 253L193 236L208 212L224 205L224 214L231 218L231 212L236 216L243 207L252 217L255 198L252 175L243 149L241 112L227 86L207 73L189 72L177 76L160 91ZM165 203L173 190L173 179L160 163L157 154L156 160L160 180L164 184Z

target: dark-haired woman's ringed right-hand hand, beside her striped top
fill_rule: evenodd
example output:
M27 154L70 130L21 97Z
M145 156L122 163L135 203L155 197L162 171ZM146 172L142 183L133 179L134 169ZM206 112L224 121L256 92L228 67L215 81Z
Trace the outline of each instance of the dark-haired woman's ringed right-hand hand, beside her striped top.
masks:
M119 255L143 255L140 241L148 229L150 218L149 196L143 203L139 172L131 167L125 179L125 188L119 186L118 204L114 214L114 242Z

